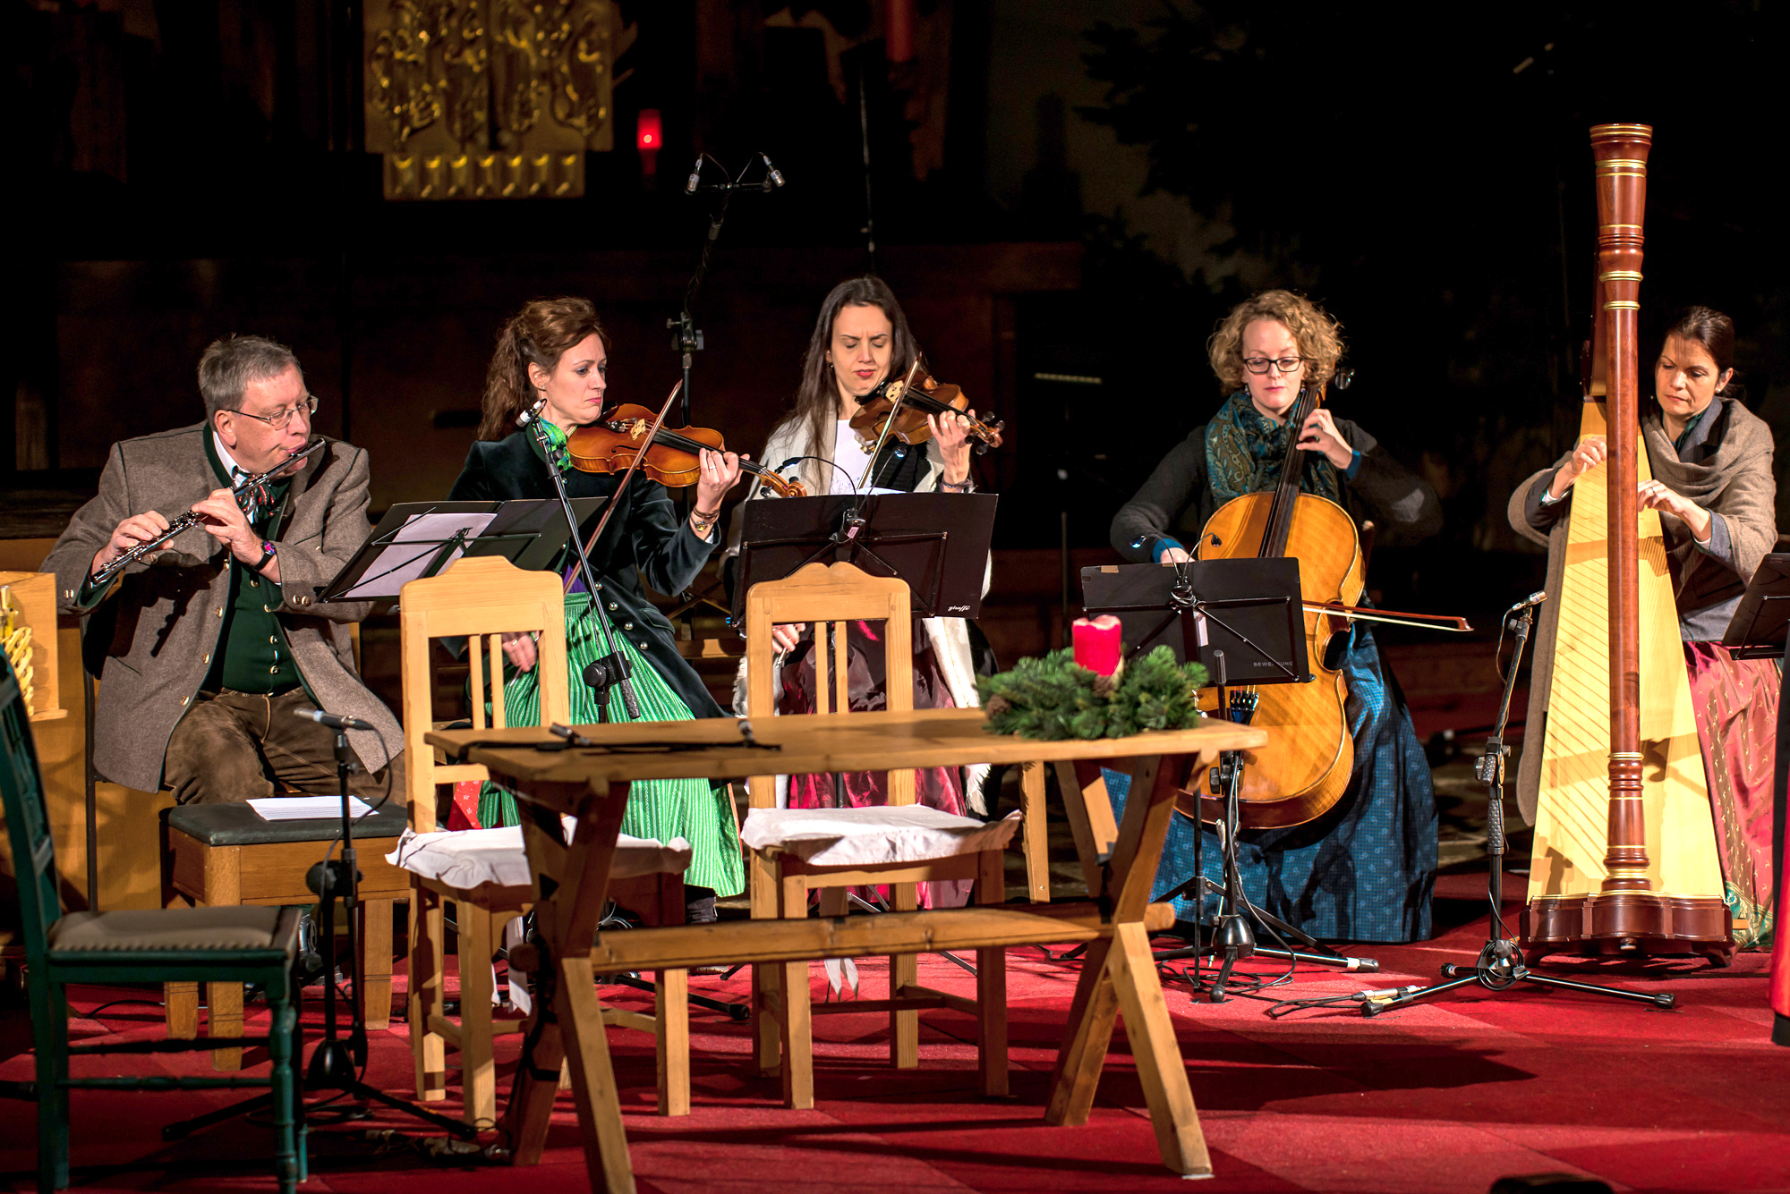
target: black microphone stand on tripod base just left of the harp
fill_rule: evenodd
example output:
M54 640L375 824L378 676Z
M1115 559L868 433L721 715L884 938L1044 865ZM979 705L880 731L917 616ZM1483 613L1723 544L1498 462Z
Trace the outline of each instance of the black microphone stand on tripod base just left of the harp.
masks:
M1636 1003L1652 1003L1654 1006L1670 1008L1677 1003L1674 994L1654 994L1649 996L1640 990L1620 990L1616 987L1598 987L1595 983L1579 983L1570 978L1554 978L1552 974L1536 974L1527 965L1523 965L1522 949L1509 938L1504 928L1504 760L1511 753L1511 747L1504 744L1504 726L1511 717L1511 692L1516 688L1516 672L1523 661L1523 645L1529 642L1529 627L1536 617L1536 606L1541 595L1530 597L1527 601L1513 606L1505 617L1505 629L1516 635L1516 654L1511 656L1511 670L1504 676L1504 702L1498 706L1498 724L1493 726L1491 736L1486 738L1486 753L1480 756L1475 770L1480 779L1486 781L1486 854L1491 856L1491 881L1487 883L1487 897L1491 899L1491 937L1486 938L1484 949L1479 951L1479 958L1473 965L1455 965L1448 962L1443 965L1445 983L1432 983L1428 987L1419 987L1398 999L1364 999L1360 1005L1362 1015L1380 1015L1382 1012L1391 1012L1393 1008L1407 1008L1418 999L1427 996L1439 996L1445 990L1453 990L1457 987L1466 987L1468 983L1479 983L1493 994L1502 994L1516 987L1516 983L1536 983L1538 987L1557 987L1561 990L1582 990L1590 996L1609 996L1611 999L1632 999ZM1527 744L1534 749L1541 749L1539 742Z

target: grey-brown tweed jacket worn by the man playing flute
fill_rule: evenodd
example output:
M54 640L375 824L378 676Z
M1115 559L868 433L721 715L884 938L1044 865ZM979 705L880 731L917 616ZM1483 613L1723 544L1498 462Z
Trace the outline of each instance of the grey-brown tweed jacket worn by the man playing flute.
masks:
M143 792L161 786L168 735L211 670L229 604L229 547L192 527L131 565L97 601L82 604L82 584L95 552L127 517L156 509L172 520L218 488L206 458L209 433L209 424L197 424L115 443L98 495L75 511L43 563L55 574L61 611L91 611L86 656L104 660L93 765ZM354 672L349 624L365 618L372 602L317 601L372 531L367 475L367 452L331 440L292 477L274 543L281 579L276 615L292 660L319 708L378 726L378 733L349 731L349 744L372 772L390 761L385 742L392 753L403 749L397 719Z

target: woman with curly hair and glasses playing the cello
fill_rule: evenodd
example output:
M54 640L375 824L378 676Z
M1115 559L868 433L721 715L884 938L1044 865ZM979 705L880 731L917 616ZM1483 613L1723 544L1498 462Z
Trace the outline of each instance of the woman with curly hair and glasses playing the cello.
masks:
M1190 559L1219 506L1274 488L1289 443L1301 452L1301 493L1337 502L1357 524L1373 518L1403 542L1441 529L1436 490L1357 424L1319 406L1303 425L1287 425L1300 390L1330 381L1342 357L1341 327L1321 307L1285 290L1262 291L1219 324L1206 352L1228 397L1113 517L1112 543L1122 556ZM1258 908L1314 937L1418 940L1430 931L1436 879L1430 769L1373 631L1353 622L1342 642L1355 740L1350 786L1317 820L1240 835L1244 890ZM1112 772L1108 790L1115 786L1122 776ZM1192 824L1178 817L1164 854L1164 888L1187 878L1192 835ZM1208 878L1223 881L1215 838L1203 863ZM1192 901L1178 901L1176 910L1198 915Z

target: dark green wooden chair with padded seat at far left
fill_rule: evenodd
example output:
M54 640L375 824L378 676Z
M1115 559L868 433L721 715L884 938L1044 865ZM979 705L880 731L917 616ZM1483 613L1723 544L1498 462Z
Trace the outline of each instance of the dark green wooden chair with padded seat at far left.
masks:
M13 837L13 867L25 931L25 981L38 1055L36 1083L9 1094L38 1101L38 1189L68 1185L68 1090L192 1090L220 1085L272 1089L276 1169L281 1190L304 1180L304 1131L297 1123L299 1012L292 960L299 947L295 908L165 908L145 912L77 912L63 915L57 897L55 847L43 797L38 751L25 704L9 663L0 660L0 806ZM213 1040L68 1044L68 985L95 983L265 983L268 1035L242 1044L267 1046L272 1069L261 1078L70 1078L68 1058L93 1053L172 1053L211 1049ZM21 1087L30 1087L23 1090Z

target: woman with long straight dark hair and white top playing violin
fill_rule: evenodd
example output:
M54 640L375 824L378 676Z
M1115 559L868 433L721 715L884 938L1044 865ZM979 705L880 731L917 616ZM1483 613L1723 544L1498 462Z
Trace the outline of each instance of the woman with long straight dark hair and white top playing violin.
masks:
M814 332L802 361L795 408L764 445L764 461L800 465L809 493L895 490L904 493L970 493L970 420L976 411L927 415L931 438L908 445L890 436L872 467L866 445L850 429L850 418L882 383L908 375L915 361L913 332L895 293L882 279L856 277L832 288L820 306ZM863 486L863 488L859 488ZM754 481L748 500L764 497ZM730 551L739 549L736 511ZM924 618L915 633L913 704L916 710L967 708L977 702L972 633L963 618ZM882 708L882 652L863 651L861 627L850 635L850 708ZM807 626L779 626L777 642L779 713L814 708L813 633ZM976 636L979 640L979 636ZM979 643L977 643L979 645ZM736 683L736 711L745 711L745 667ZM979 806L979 781L986 769L970 769L968 803ZM848 774L845 790L832 776L793 776L779 799L789 808L847 808L882 804L888 797L881 774ZM915 783L922 804L950 813L965 810L965 776L958 769L920 770Z

